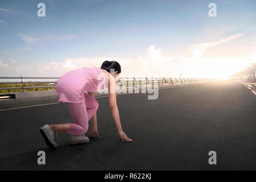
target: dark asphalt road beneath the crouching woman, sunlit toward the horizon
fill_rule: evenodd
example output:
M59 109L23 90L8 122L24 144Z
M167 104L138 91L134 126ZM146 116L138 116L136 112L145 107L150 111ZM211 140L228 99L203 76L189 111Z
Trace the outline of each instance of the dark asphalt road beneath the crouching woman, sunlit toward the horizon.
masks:
M117 96L121 124L132 142L121 142L108 107L99 102L100 135L70 146L59 133L47 148L39 128L73 122L66 103L0 111L0 169L32 170L229 170L256 169L256 96L235 81L206 82L148 94ZM90 133L90 127L86 134ZM38 151L46 165L38 165ZM209 165L209 151L217 164Z

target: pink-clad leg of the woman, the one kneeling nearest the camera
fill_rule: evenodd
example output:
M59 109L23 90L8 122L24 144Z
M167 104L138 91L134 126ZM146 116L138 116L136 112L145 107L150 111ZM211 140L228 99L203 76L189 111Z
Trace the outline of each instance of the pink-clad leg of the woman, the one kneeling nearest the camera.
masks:
M67 123L70 129L67 133L72 135L82 135L88 130L88 115L86 110L86 104L76 104L67 102L70 113L74 118L75 123Z

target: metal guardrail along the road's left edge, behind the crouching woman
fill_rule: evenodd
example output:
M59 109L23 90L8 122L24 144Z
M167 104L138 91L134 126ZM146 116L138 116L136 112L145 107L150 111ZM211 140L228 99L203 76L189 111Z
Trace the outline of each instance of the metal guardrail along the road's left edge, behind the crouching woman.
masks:
M0 77L0 79L21 79L21 82L0 82L0 84L21 84L21 87L9 87L9 88L0 88L0 90L7 90L7 89L31 89L31 88L55 88L58 81L23 81L23 79L59 79L60 77ZM117 84L120 86L126 86L126 88L135 88L138 86L147 86L147 85L163 85L163 84L188 84L191 82L205 82L205 81L213 81L217 80L214 78L119 78L117 80ZM24 86L25 83L53 83L54 86Z

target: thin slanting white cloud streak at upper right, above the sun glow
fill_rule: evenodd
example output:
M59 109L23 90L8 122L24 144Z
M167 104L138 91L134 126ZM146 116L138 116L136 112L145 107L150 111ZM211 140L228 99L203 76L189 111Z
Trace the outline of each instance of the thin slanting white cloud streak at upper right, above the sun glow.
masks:
M194 57L200 57L203 55L204 51L208 49L209 47L217 46L218 44L222 44L224 42L228 42L230 40L234 40L238 38L239 36L242 36L242 34L237 34L237 35L231 35L225 39L222 39L217 42L208 42L208 43L201 43L201 44L192 44L189 46L189 50L191 51L192 55Z

